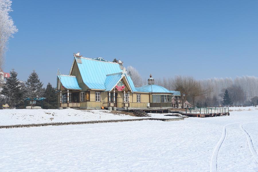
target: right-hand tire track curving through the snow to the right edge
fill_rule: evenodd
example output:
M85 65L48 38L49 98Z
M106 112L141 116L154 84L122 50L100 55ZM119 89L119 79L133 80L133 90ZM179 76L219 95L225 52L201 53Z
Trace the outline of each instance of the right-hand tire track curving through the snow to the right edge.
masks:
M248 123L252 123L252 122L248 122ZM247 144L248 144L248 147L249 147L249 150L250 150L252 156L249 154L249 151L246 149L247 150L247 154L255 162L255 164L258 164L258 155L257 155L257 153L255 151L254 146L253 146L253 141L252 141L249 133L243 128L243 124L245 124L245 123L240 124L239 127L240 127L240 129L245 134L245 137L246 137L246 140L247 140Z

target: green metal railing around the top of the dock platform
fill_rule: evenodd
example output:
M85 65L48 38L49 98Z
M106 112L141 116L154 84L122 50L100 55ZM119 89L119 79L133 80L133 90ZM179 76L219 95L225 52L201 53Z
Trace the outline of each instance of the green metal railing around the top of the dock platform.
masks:
M228 107L189 107L185 109L186 114L219 114L229 112Z

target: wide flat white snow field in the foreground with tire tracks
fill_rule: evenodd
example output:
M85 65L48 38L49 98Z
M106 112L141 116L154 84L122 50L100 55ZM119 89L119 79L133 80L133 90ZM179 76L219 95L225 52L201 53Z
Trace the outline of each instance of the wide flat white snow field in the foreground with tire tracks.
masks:
M0 129L0 171L258 171L258 108L230 109L172 122Z

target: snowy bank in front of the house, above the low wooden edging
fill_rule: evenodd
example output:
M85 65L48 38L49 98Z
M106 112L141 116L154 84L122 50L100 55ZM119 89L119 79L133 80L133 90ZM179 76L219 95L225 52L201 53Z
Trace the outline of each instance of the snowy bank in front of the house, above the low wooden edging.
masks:
M149 118L177 118L174 116L164 116L165 114L150 114ZM54 118L50 120L49 118ZM95 120L121 120L136 119L135 117L124 114L112 114L108 110L74 110L74 109L10 109L0 110L0 125L14 124L39 124L50 122L78 122ZM146 118L146 117L143 117Z

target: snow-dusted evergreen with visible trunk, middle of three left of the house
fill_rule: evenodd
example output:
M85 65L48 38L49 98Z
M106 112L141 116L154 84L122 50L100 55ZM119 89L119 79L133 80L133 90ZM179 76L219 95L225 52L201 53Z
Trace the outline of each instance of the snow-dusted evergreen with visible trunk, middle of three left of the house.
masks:
M35 70L32 71L30 74L26 86L28 89L27 96L33 101L34 98L36 97L42 97L43 95L43 89L42 89L42 82L38 78L38 74L36 73ZM31 105L32 108L32 105Z

